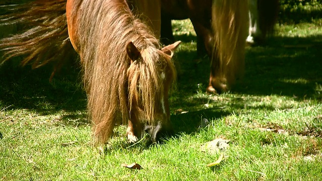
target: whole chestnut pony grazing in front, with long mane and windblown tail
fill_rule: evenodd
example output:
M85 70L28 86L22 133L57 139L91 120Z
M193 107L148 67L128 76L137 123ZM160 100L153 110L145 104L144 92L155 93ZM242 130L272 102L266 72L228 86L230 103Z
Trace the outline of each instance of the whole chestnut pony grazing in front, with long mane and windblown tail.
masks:
M180 42L160 48L124 0L39 0L23 9L13 21L33 22L35 28L2 40L0 48L8 57L27 54L24 63L36 58L33 63L43 65L38 55L48 57L44 51L51 46L55 52L70 50L68 27L81 57L94 142L107 142L118 119L128 122L130 141L144 131L156 141L172 130L168 93L176 71L171 57Z

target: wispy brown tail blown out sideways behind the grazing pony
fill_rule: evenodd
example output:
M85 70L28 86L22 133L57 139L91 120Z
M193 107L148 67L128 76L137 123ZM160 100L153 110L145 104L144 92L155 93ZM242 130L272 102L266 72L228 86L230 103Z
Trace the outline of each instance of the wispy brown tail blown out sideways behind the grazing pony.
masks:
M73 51L67 32L66 0L36 0L8 6L8 12L0 16L0 25L22 24L28 29L0 40L0 50L4 52L0 64L23 55L22 65L37 68L56 59L59 67L62 57Z

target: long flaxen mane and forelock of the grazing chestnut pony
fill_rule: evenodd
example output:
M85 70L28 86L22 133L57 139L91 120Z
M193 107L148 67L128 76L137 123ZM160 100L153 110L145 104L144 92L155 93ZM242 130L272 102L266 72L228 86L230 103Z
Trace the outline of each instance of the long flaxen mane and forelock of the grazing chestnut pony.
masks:
M129 113L135 106L132 104L141 106L146 121L152 124L162 83L158 72L170 66L175 77L175 68L170 56L159 50L153 33L133 16L124 1L77 2L82 11L76 17L77 48L94 123L93 136L95 141L104 143L113 132L119 113L123 122L130 119ZM141 54L133 62L126 52L129 41Z

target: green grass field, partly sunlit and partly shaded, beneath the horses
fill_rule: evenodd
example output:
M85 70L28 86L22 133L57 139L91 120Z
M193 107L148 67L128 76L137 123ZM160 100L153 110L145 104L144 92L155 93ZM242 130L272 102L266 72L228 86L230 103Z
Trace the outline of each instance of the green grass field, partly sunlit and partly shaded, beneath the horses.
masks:
M174 137L163 144L91 145L86 94L77 65L48 81L51 67L0 69L0 180L322 180L322 25L277 25L266 44L247 47L246 70L231 92L209 96L209 61L196 59L188 20L172 91ZM209 125L200 127L202 120ZM205 143L230 140L223 160ZM122 163L143 169L124 168Z

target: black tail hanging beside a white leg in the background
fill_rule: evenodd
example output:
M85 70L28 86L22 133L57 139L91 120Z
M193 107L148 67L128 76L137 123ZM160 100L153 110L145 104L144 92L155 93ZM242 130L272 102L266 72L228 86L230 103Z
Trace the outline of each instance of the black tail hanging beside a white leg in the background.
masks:
M273 32L279 10L279 0L258 0L259 28L264 38Z

